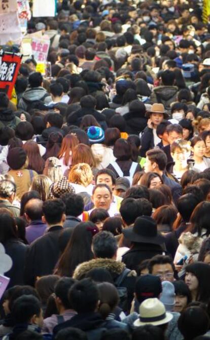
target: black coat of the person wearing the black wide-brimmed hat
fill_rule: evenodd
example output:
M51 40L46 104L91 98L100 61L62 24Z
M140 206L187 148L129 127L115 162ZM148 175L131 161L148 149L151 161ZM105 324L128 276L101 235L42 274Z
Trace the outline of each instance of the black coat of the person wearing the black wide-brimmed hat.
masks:
M136 270L142 261L162 254L163 248L160 245L136 243L122 256L122 262L125 263L127 268Z

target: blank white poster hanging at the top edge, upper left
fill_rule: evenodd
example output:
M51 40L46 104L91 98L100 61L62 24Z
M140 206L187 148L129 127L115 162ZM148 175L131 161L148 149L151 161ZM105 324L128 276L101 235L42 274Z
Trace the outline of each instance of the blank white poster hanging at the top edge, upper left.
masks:
M54 17L56 0L33 0L33 17Z

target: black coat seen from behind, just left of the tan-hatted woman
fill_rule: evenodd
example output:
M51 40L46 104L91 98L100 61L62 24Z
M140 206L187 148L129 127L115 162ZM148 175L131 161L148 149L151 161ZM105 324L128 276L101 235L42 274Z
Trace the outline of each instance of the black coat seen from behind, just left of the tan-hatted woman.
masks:
M123 118L126 121L127 132L129 134L139 135L139 133L142 132L147 126L148 119L145 117L138 117L136 113L128 112L123 115Z

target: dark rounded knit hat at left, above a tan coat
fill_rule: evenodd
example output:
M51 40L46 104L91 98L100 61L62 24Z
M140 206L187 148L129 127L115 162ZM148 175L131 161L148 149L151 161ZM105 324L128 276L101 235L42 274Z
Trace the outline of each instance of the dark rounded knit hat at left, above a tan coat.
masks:
M7 163L13 170L21 169L27 159L27 153L22 148L12 148L7 155Z

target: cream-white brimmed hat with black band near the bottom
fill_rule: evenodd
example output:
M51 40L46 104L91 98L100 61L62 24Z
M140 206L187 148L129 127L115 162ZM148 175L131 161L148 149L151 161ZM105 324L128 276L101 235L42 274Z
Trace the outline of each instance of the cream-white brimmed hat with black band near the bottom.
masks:
M134 321L133 326L164 325L173 318L172 314L165 311L164 304L158 298L149 298L143 301L139 307L139 318Z

